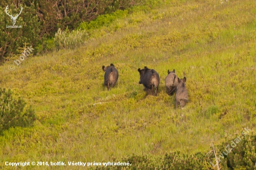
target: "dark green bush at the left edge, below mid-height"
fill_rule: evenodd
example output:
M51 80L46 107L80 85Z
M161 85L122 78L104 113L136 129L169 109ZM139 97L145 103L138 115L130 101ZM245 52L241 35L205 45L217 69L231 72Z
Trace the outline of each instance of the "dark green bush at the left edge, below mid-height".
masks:
M15 98L10 89L0 90L0 132L10 127L26 127L35 120L31 106L24 110L26 103L21 98Z

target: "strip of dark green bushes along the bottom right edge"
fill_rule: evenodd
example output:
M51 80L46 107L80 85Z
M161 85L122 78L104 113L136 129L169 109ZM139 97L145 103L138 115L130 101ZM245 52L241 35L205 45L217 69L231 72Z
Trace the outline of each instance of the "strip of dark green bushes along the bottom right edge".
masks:
M245 130L244 130L245 131ZM225 151L228 144L231 145L232 141L239 136L235 134L226 138L225 142L215 146L216 155ZM223 154L223 157L220 159L219 166L221 170L256 170L256 135L253 134L253 131L247 133L246 136L240 134L242 139L236 147L233 147L233 150L227 155ZM230 146L231 148L231 146ZM212 160L212 162L211 162ZM196 154L181 154L180 152L167 153L164 156L154 156L154 155L132 155L122 160L116 160L113 158L110 162L123 162L131 163L129 166L101 166L91 169L96 170L217 170L215 165L215 156L214 154L206 153L196 153ZM210 164L210 162L213 164Z

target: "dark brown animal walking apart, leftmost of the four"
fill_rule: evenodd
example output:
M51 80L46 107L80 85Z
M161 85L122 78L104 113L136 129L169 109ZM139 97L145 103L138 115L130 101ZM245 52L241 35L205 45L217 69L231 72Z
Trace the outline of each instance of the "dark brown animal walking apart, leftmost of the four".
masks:
M107 89L109 90L109 85L111 85L111 87L115 86L118 79L118 71L112 63L107 67L103 65L102 70L105 72L104 85L107 86Z

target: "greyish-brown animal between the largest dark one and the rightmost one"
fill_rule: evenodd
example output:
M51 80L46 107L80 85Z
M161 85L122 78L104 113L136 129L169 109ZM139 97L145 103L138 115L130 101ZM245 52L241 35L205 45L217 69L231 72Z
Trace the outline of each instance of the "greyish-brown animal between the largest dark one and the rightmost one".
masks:
M175 74L175 70L172 72L168 70L168 75L165 78L165 87L168 95L173 95L178 86L178 76Z

